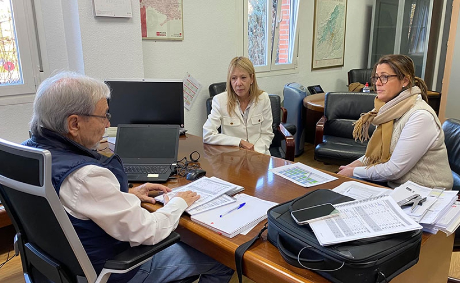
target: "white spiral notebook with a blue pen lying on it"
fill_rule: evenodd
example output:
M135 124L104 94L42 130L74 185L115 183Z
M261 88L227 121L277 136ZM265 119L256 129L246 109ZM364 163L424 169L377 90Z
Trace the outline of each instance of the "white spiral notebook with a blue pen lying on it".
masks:
M225 237L233 238L266 219L267 210L278 204L246 194L236 195L235 199L237 201L234 203L192 215L190 218L193 222L208 227ZM235 209L242 203L245 204Z

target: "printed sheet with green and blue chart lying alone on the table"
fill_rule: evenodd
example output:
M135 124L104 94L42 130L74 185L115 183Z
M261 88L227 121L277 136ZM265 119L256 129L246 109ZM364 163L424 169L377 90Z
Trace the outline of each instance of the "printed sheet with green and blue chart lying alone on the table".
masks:
M305 187L324 184L338 179L299 162L272 168L269 171Z

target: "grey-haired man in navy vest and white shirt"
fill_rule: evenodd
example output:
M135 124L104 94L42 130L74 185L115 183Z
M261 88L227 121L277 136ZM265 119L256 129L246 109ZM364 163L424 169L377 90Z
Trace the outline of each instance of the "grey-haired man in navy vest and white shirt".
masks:
M23 143L51 152L53 185L98 274L106 258L165 239L199 198L178 193L154 213L140 206L155 202L150 191L171 190L151 183L128 188L120 157L95 151L110 126L109 98L107 85L84 75L62 72L44 80L34 101L32 137ZM228 282L233 270L179 242L139 268L112 274L109 282L169 282L197 274L200 282Z

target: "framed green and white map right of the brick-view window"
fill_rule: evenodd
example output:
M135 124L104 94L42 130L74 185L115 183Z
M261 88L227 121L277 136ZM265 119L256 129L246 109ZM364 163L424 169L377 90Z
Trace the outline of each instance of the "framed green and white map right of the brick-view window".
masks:
M315 0L311 68L343 66L347 0Z

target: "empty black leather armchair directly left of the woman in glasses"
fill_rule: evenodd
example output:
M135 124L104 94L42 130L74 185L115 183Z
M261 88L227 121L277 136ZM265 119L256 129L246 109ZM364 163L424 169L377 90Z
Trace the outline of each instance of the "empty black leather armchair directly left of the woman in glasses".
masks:
M353 123L374 108L373 93L328 92L324 116L316 124L314 158L328 164L346 165L366 152L367 141L353 139ZM369 136L375 127L371 125Z

